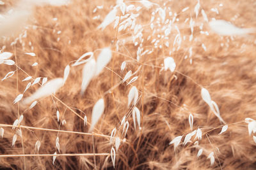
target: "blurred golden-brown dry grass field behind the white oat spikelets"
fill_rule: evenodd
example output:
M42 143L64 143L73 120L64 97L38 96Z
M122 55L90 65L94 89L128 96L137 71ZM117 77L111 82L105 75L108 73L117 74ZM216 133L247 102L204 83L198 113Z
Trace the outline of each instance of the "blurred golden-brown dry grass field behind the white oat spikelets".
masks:
M162 7L163 2L157 1ZM126 3L142 6L136 2ZM122 139L116 153L116 169L255 169L255 143L252 136L248 136L247 124L244 122L244 118L256 118L255 34L235 36L232 41L230 37L214 34L205 24L204 31L209 31L210 35L200 34L199 27L195 27L194 39L189 41L189 21L184 24L184 20L193 17L195 25L203 22L201 14L195 18L193 10L196 3L197 1L187 0L166 1L166 6L170 6L173 13L179 14L180 21L175 24L180 29L182 39L186 36L186 40L182 41L179 50L173 51L173 40L177 34L173 27L169 36L170 47L155 48L151 54L141 56L140 62L136 60L138 46L134 47L131 32L121 31L116 37L113 25L106 27L104 31L97 29L111 10L110 6L115 5L115 1L76 0L68 6L34 7L33 16L29 17L26 24L28 36L22 38L24 46L19 41L15 45L10 45L15 37L19 37L22 32L20 30L15 36L1 40L1 46L6 46L4 51L14 54L12 60L17 58L16 64L22 70L19 69L12 77L0 83L0 127L4 127L3 124L12 125L19 115L24 115L24 119L17 128L22 130L22 139L18 136L14 148L12 138L16 131L11 127L4 127L4 137L0 138L0 153L53 154L56 152L56 137L59 136L60 152L57 153L94 152L99 155L59 155L54 165L52 155L1 157L0 168L93 169L96 165L97 169L113 169L110 156L112 144L109 144L109 136L116 128L116 136ZM219 6L220 3L223 3L223 7ZM103 5L104 8L93 13L97 5ZM209 19L215 17L231 21L238 13L236 20L232 20L233 24L256 27L256 3L253 0L202 1L200 5ZM1 11L10 6L13 4L8 3ZM190 7L189 10L180 13L186 6ZM216 15L211 8L218 8L220 14ZM142 8L137 23L148 25L150 13L154 10L155 7L150 10ZM93 20L92 18L97 15L100 15L100 20ZM57 21L52 20L55 17L58 18ZM61 34L57 34L58 31L61 31ZM147 41L149 35L152 35L152 31L148 25L143 31L144 50L151 50L154 44L151 43L153 38ZM125 39L125 44L119 46L118 52L116 39ZM206 46L206 51L202 48L202 43ZM224 43L224 46L221 46L221 43ZM65 66L71 61L77 60L86 52L95 52L97 57L99 49L107 46L111 46L113 50L112 60L99 76L93 78L83 96L79 94L83 66L77 66L70 68L68 80L58 90L56 97L40 99L31 110L26 110L29 106L20 103L12 104L17 94L24 91L28 81L22 80L28 74L33 78L47 77L48 80L62 77ZM189 63L189 59L184 59L189 55L191 46L192 64ZM170 51L176 63L175 71L160 71L163 60L170 56ZM25 55L25 52L34 52L36 57ZM124 60L127 66L121 73L120 66ZM38 62L38 66L31 67L34 62ZM9 71L14 71L16 66L1 64L0 68L0 77L3 78ZM139 69L136 73L136 76L139 76L138 80L131 85L122 83L106 94L105 92L118 84L130 69L132 73ZM136 106L141 112L141 131L138 128L134 129L131 108L127 108L127 96L132 85L139 90L140 100ZM24 97L31 96L38 87L40 85L29 88ZM209 90L212 100L220 108L221 117L228 124L228 130L221 135L219 133L222 124L202 100L202 87ZM84 127L83 117L86 115L90 123L93 105L100 98L104 98L104 114L92 136L87 133L90 125ZM60 111L60 120L64 118L67 124L60 125L60 122L57 122L56 108ZM191 132L189 113L194 117L193 130L198 127L202 129L202 141L199 145L180 144L174 150L173 145L168 143L177 136ZM123 141L123 126L120 126L124 115L129 122L126 141ZM191 138L192 141L194 138ZM41 143L39 152L35 150L37 140ZM198 148L204 148L204 152L196 158ZM215 157L213 166L210 166L210 160L207 159L211 152L214 152Z

